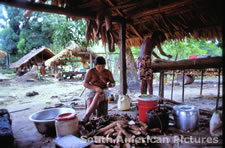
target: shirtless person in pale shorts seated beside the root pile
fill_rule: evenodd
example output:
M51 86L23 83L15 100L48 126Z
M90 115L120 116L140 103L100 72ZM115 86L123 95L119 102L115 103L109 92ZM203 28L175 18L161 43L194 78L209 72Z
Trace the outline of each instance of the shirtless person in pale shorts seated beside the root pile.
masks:
M105 69L105 59L101 56L95 58L95 68L90 69L84 79L84 87L88 88L87 110L83 122L87 122L90 115L97 109L100 102L110 95L108 88L115 86L112 73Z

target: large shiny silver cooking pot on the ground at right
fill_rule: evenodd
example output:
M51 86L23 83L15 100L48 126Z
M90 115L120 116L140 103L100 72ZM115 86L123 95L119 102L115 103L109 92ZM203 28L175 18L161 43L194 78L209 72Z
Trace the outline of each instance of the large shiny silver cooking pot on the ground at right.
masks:
M194 105L176 105L173 107L175 126L181 131L194 131L199 124L199 108Z

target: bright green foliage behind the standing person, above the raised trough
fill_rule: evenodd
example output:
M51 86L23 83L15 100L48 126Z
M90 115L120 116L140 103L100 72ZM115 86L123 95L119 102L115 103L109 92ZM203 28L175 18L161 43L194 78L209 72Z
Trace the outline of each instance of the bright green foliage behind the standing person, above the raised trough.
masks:
M178 54L177 60L188 59L191 55L209 55L209 56L222 56L222 48L220 47L222 40L196 40L194 38L185 38L182 41L165 41L162 44L162 49L167 53L172 55L171 60L175 60L176 54ZM134 58L137 58L140 54L140 47L132 47L131 48ZM161 57L162 56L159 51L154 49L154 51Z

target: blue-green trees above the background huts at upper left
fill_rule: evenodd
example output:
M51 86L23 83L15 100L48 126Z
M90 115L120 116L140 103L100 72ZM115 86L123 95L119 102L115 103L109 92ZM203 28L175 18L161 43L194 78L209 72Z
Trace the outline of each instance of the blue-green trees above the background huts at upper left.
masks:
M83 20L67 21L65 16L32 12L23 17L25 10L4 7L7 11L6 25L0 28L0 49L17 60L34 48L45 46L59 52L71 41L85 46L85 23Z

